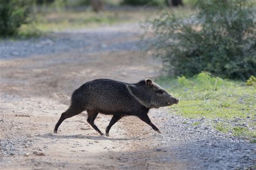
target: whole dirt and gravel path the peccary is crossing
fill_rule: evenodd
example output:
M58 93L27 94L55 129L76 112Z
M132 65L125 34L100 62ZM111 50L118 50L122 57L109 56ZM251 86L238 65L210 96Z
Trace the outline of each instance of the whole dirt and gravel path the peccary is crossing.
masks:
M52 42L33 41L39 45L35 45L38 51L31 49L32 55L27 51L33 42L26 41L25 51L22 47L19 51L23 44L19 41L13 48L4 47L6 54L0 60L1 169L215 169L252 165L255 145L227 137L204 123L198 128L183 124L184 119L170 115L167 108L153 109L149 114L162 134L136 117L125 117L113 126L110 137L99 136L87 124L86 112L67 119L58 134L52 133L60 114L68 109L72 91L84 82L104 77L132 83L159 75L160 61L142 56L134 47L138 36L131 30L115 27L56 33ZM93 35L96 40L82 43ZM42 45L45 41L50 44ZM78 42L82 45L65 48ZM1 43L0 47L11 44ZM51 52L53 47L56 51ZM39 49L44 48L42 54ZM18 55L12 55L11 49ZM110 119L99 115L95 122L104 130Z

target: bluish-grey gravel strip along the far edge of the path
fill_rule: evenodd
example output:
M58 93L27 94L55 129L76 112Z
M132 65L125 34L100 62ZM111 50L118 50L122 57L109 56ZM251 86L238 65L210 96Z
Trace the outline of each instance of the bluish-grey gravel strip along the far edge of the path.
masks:
M9 60L33 55L46 55L59 52L69 52L75 49L86 49L87 53L140 51L138 39L139 25L106 26L101 29L65 30L51 33L47 37L31 38L28 40L0 41L0 59ZM126 39L115 43L112 40Z

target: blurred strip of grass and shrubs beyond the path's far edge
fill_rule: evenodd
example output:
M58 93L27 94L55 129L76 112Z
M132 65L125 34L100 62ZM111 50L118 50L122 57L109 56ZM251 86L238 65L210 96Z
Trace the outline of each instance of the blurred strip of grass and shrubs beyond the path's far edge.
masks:
M190 9L195 1L184 2ZM183 5L180 0L0 0L0 36L30 37L69 28L143 21L154 12L179 5Z

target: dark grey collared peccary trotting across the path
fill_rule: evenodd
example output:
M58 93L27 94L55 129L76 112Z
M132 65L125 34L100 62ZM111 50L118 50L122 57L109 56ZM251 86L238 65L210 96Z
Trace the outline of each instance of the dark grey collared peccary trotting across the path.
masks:
M151 123L147 113L151 108L160 108L178 104L179 100L172 97L157 83L150 79L129 84L109 79L97 79L84 83L75 90L71 97L71 105L57 122L54 132L57 133L59 125L66 119L87 111L87 122L100 135L103 133L94 124L98 113L113 115L106 136L110 128L124 116L138 116L149 124L153 130L160 133L158 128Z

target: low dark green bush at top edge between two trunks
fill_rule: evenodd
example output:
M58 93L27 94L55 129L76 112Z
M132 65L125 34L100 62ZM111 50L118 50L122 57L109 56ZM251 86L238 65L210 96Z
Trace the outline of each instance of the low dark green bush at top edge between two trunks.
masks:
M164 5L166 2L165 0L123 0L122 4L127 5L152 5L152 6L159 6Z

